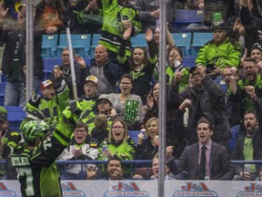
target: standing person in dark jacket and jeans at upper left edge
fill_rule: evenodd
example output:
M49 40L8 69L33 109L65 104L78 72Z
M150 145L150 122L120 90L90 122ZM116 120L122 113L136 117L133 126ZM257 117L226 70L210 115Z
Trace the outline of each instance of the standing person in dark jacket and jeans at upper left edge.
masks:
M21 13L15 22L1 26L0 34L5 43L2 62L2 72L7 76L5 106L25 106L25 15Z

